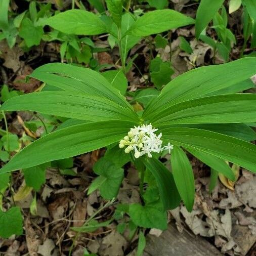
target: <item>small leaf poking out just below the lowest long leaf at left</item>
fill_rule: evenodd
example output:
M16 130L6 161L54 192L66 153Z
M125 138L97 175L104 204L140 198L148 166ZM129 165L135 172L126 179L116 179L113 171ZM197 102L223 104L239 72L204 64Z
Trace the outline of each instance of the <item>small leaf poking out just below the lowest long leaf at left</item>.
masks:
M46 167L46 164L41 164L30 168L24 168L22 171L26 185L39 191L41 185L46 182Z

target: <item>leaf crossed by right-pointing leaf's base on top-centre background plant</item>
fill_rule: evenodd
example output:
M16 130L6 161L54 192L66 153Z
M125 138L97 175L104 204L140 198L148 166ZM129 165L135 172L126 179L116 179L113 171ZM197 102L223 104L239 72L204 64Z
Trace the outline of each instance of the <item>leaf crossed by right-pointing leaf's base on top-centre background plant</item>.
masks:
M131 26L135 23L135 20L131 13L125 13L122 16L121 22L121 44L120 44L120 56L122 62L125 63L128 52L138 43L140 40L140 36L135 36L131 34L126 34L126 32L131 28Z

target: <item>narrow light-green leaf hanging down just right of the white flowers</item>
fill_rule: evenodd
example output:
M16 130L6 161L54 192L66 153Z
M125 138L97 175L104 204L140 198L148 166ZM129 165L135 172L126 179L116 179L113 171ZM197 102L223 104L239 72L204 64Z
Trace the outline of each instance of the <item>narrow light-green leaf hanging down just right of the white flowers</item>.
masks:
M170 155L170 163L179 194L187 210L192 211L195 198L195 181L189 159L180 147L175 146Z

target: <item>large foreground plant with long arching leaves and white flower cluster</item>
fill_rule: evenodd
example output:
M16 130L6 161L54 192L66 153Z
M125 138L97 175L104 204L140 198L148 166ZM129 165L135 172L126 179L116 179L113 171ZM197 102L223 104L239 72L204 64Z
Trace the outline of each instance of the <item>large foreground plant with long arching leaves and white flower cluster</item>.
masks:
M256 95L237 93L253 87L249 78L255 73L255 58L196 68L170 81L138 114L100 73L46 64L30 76L56 91L17 96L1 110L67 117L69 126L23 148L0 174L119 145L119 151L130 153L141 179L145 169L154 177L162 211L177 207L181 199L191 211L195 187L185 151L230 180L235 176L227 161L256 172L256 146L248 142L255 139L249 125L256 121ZM172 172L158 160L163 145L174 145Z

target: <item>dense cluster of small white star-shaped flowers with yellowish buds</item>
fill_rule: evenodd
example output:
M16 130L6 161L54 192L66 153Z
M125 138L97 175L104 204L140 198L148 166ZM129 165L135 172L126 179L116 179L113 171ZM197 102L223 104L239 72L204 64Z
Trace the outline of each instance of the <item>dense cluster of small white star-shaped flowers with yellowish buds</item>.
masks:
M162 134L160 133L158 136L155 132L158 129L152 128L151 123L142 126L134 126L131 128L128 136L125 136L123 140L119 142L119 148L124 148L125 153L130 153L134 150L135 158L139 158L144 154L148 154L149 157L152 157L152 152L159 153L162 145L162 141L160 140Z

